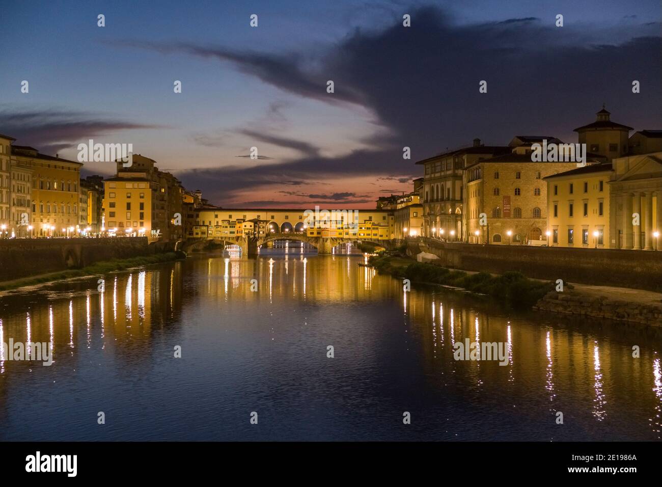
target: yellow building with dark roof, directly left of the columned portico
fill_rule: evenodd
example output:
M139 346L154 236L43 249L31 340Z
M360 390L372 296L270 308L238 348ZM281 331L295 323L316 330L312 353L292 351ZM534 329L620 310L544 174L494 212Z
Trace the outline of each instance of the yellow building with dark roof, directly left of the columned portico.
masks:
M547 176L547 226L552 246L612 248L609 235L612 164Z

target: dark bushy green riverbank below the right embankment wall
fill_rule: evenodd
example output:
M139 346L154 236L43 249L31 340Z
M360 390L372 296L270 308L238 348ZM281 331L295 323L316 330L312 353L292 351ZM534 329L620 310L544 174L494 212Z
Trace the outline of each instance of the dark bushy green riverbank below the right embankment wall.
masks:
M498 276L487 272L472 274L397 256L373 256L369 262L380 274L391 274L411 282L463 288L487 294L517 308L532 307L555 287L553 282L529 279L520 272L506 272Z

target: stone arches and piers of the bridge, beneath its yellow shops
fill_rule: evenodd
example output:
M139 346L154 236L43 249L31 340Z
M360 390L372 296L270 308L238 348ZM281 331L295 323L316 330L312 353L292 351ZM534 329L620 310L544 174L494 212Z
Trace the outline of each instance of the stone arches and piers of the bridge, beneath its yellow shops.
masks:
M277 240L290 240L297 242L305 242L317 249L318 254L331 254L332 248L348 242L368 242L381 245L389 248L391 241L389 240L375 240L375 239L343 239L340 237L309 237L305 233L269 233L261 237L252 237L248 235L240 235L238 237L220 237L218 239L188 239L182 245L182 250L191 252L195 248L203 248L209 242L216 244L236 244L241 247L242 254L246 256L256 256L258 248Z

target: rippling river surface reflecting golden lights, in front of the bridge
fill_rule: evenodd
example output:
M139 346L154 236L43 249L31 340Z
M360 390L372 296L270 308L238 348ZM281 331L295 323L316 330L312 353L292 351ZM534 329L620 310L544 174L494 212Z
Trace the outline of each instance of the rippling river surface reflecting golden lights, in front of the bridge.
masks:
M54 362L5 352L0 439L660 438L659 339L403 294L362 261L208 254L109 274L103 293L96 278L5 293L0 341L50 342ZM465 338L504 343L507 364L454 360Z

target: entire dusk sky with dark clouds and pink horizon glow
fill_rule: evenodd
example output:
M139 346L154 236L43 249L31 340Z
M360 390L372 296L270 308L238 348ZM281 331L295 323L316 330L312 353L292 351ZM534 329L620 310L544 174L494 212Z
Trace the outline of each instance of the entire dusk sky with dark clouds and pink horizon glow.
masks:
M130 142L224 207L374 207L475 137L577 142L602 103L662 129L660 21L659 0L14 2L0 133L72 160Z

